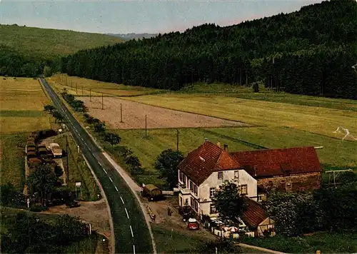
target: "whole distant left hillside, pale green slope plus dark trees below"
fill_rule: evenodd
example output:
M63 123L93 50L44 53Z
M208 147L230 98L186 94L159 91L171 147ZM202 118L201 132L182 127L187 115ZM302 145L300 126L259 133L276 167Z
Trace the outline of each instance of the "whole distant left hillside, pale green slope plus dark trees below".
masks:
M37 76L45 65L59 66L59 56L120 41L104 34L0 25L0 76Z

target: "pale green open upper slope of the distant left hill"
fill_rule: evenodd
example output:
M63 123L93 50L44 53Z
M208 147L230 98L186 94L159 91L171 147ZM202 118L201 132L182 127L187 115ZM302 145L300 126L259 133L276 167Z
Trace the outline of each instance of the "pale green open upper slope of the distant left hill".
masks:
M16 25L0 25L0 34L0 44L32 56L63 56L81 49L121 42L118 37L105 34Z

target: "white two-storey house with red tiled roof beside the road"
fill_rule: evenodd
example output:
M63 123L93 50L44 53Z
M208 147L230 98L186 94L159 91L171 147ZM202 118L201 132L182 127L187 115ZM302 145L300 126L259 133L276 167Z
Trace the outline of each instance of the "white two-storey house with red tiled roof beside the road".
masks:
M211 198L224 181L233 181L241 194L256 200L257 181L219 144L206 141L178 165L178 203L190 205L198 215L217 217Z

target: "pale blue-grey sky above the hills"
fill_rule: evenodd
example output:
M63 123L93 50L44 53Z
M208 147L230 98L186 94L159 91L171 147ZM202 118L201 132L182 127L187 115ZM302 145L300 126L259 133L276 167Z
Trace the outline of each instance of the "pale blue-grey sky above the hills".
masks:
M0 24L18 24L101 34L166 33L214 23L298 11L316 0L221 1L16 1L0 0ZM1 36L1 35L0 35Z

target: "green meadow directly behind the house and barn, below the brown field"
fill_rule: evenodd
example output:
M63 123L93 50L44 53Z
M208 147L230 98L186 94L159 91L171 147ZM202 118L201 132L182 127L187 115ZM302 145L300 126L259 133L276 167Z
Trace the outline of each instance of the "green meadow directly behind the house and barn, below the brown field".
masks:
M114 131L114 130L112 130ZM115 130L121 136L121 145L129 146L139 157L146 173L137 176L143 183L154 183L159 186L164 182L152 164L161 151L167 148L176 150L176 129L148 130ZM316 150L318 158L325 170L330 168L356 168L356 143L341 141L336 138L308 133L285 127L252 127L252 128L181 128L179 129L179 150L185 155L208 141L223 146L228 145L228 151L248 151L260 148L285 148L294 146L323 146ZM116 157L114 149L109 151Z

